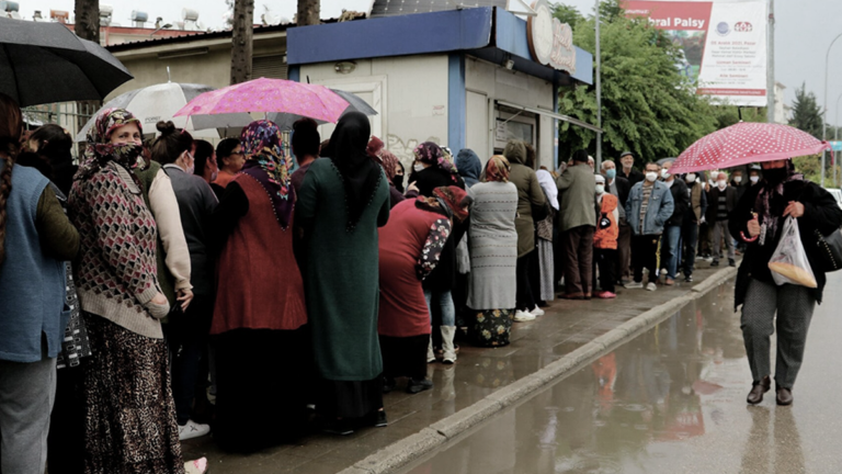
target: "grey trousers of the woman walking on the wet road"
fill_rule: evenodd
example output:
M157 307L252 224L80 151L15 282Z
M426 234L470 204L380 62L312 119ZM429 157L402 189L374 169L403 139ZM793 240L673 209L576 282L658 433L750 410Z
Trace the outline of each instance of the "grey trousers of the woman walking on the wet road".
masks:
M754 381L772 373L769 362L770 340L775 331L777 312L777 359L775 361L775 386L793 388L795 377L801 368L807 329L810 327L816 298L810 290L785 284L777 286L752 279L742 305L742 339Z

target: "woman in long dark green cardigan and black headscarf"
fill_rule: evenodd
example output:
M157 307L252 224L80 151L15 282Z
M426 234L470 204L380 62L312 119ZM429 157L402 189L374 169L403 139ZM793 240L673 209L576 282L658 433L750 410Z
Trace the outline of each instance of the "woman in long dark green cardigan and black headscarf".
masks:
M329 432L386 426L377 341L377 227L389 219L388 181L365 153L371 125L340 119L304 178L295 217L305 232L304 287L320 377L316 407Z

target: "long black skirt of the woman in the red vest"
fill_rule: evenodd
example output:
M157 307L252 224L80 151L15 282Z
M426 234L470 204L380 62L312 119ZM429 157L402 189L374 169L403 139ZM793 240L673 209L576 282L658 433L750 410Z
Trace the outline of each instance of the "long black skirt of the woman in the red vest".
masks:
M235 329L212 337L220 448L253 452L304 435L312 370L306 331Z

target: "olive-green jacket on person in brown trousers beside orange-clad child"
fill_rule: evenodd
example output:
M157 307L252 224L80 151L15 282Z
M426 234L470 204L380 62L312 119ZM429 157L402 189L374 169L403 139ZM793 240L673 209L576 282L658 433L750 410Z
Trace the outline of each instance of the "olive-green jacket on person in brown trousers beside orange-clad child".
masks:
M568 167L558 177L558 190L561 194L561 232L589 225L596 226L596 179L588 163Z

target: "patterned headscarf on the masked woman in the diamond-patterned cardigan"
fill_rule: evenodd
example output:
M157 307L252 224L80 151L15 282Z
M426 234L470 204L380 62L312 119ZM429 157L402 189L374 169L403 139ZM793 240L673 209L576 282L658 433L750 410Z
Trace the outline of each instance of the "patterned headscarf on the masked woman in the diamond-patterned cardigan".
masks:
M76 173L77 180L93 176L109 161L122 165L127 170L137 168L137 159L144 151L143 145L134 142L111 143L111 134L115 129L129 124L136 124L143 131L140 121L125 109L105 109L100 112L91 129L88 132L88 146L84 149L84 160ZM134 174L133 174L134 177Z

